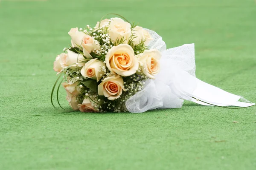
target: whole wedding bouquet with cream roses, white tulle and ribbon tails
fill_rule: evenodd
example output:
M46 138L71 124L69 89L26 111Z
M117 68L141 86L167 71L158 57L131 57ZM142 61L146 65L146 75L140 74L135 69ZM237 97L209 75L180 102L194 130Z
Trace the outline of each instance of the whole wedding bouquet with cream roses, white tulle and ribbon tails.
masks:
M54 62L59 77L52 94L64 80L73 110L139 113L180 108L183 99L221 107L254 105L195 78L194 44L166 50L157 33L118 17L68 34L71 45Z

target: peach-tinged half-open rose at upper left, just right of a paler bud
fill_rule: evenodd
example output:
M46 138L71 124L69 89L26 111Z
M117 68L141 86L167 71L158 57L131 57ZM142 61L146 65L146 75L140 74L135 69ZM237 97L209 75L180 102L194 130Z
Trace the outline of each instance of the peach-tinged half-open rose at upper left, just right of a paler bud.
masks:
M99 50L100 45L97 45L95 43L95 40L93 37L90 35L84 34L84 37L82 39L82 48L83 48L83 53L86 58L93 58L90 53L93 50Z

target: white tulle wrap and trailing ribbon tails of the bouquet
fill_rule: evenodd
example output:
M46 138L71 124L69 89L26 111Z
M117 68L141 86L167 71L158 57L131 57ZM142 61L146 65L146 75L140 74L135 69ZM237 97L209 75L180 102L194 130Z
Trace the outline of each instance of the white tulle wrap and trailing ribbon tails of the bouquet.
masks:
M197 79L194 44L184 44L166 50L162 37L154 31L146 30L153 38L148 47L157 49L162 54L160 73L155 76L156 79L145 82L144 89L125 102L129 112L142 113L156 108L181 108L183 99L201 105L239 107L255 105L245 101L241 96L230 94ZM239 99L244 102L239 102Z

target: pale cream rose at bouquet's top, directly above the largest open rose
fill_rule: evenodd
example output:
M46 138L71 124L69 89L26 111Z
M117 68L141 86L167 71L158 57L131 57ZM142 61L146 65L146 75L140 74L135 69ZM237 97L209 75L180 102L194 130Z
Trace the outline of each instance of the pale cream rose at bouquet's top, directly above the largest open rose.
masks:
M108 27L108 34L112 42L116 42L117 39L124 38L123 44L128 43L128 39L131 36L131 24L125 22L121 18L111 18L111 22Z

